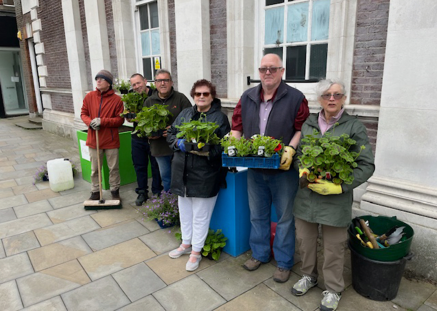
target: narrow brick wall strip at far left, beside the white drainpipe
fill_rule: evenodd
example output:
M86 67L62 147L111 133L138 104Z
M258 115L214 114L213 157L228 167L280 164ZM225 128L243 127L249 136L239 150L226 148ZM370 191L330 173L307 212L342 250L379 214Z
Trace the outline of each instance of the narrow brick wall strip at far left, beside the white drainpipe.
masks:
M15 0L15 14L17 17L17 28L18 30L25 29L26 23L32 22L30 19L30 13L23 16L21 10L21 1ZM32 65L30 63L29 46L27 39L20 40L20 55L21 55L21 66L23 69L23 82L26 85L27 103L29 104L29 112L37 113L38 109L36 107L36 97L35 88L32 76Z

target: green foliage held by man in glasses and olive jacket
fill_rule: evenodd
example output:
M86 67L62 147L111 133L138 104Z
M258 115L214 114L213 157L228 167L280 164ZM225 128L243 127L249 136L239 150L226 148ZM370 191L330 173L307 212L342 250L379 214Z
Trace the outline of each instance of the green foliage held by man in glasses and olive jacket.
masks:
M167 110L167 105L154 104L151 107L143 107L134 119L134 121L138 122L138 125L132 134L140 132L138 134L139 137L152 136L152 132L165 129L168 117L172 115Z

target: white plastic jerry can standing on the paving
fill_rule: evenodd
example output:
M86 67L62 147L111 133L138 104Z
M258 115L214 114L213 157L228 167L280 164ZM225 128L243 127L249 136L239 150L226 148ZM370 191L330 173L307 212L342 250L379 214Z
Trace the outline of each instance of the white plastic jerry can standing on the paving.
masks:
M72 189L74 187L73 168L68 159L54 159L47 161L50 189L55 192Z

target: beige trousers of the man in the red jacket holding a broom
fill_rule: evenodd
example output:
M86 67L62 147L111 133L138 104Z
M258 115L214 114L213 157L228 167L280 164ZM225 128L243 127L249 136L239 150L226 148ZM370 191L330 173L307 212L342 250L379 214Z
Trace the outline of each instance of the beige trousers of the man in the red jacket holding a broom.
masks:
M99 171L97 165L97 149L90 148L91 157L91 191L99 192ZM100 165L103 165L103 154L106 155L106 161L109 168L109 189L111 191L120 188L120 171L118 169L118 148L99 149Z

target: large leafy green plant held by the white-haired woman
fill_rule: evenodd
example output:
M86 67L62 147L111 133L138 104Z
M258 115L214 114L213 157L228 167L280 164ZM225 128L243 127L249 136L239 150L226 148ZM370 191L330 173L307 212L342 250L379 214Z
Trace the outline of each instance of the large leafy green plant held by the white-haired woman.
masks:
M360 147L360 152L350 152L350 147L355 145L356 141L349 138L347 134L334 136L336 125L338 122L334 124L332 133L326 132L319 137L320 132L314 129L312 135L302 138L302 155L298 157L299 167L310 170L307 174L309 182L322 178L332 179L333 183L340 185L342 182L351 184L354 180L353 169L358 166L355 160L365 146Z

